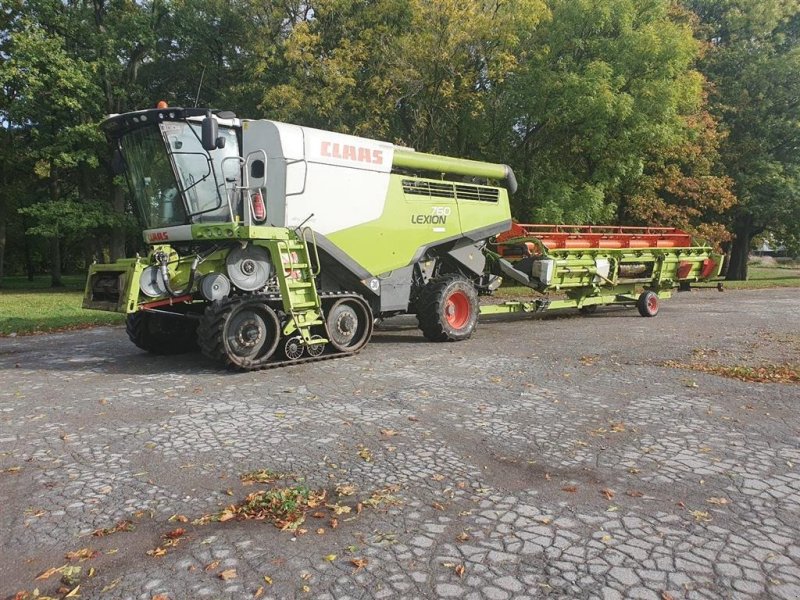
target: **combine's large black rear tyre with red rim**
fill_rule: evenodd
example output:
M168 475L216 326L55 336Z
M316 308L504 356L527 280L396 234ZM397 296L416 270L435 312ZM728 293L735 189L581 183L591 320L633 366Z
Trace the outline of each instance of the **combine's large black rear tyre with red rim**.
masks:
M478 293L462 275L431 279L417 301L417 321L432 342L455 342L472 335L478 323Z

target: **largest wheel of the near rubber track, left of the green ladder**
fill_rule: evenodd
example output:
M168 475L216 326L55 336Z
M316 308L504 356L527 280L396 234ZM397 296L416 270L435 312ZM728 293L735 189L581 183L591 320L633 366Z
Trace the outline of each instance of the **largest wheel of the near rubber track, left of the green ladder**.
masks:
M278 316L258 298L212 304L197 329L203 354L243 370L264 366L280 337Z

